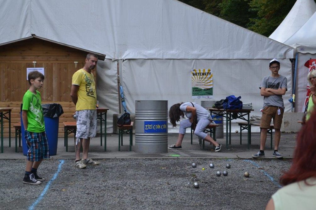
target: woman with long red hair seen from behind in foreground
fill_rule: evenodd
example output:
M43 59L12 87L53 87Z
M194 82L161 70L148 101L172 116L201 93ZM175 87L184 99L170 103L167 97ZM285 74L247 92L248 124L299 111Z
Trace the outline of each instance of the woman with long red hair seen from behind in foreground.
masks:
M297 135L292 166L280 178L284 186L266 210L316 209L316 111Z

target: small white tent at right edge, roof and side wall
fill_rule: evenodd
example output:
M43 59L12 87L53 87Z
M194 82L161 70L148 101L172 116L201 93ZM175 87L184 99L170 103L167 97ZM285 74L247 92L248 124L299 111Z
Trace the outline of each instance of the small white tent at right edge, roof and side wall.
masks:
M316 12L285 44L297 49L297 110L305 109L308 68L304 66L310 58L316 59Z

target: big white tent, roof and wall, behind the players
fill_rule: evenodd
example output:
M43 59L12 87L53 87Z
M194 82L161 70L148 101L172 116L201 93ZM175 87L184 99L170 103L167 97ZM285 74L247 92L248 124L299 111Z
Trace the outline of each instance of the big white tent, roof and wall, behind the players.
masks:
M212 69L213 100L241 95L262 108L262 78L269 60L281 62L288 79L290 111L294 49L176 0L0 1L0 44L35 34L106 54L98 62L99 105L118 113L117 62L127 108L135 100L168 100L170 107L191 97L191 69ZM14 7L12 6L14 4ZM169 132L177 131L169 129Z

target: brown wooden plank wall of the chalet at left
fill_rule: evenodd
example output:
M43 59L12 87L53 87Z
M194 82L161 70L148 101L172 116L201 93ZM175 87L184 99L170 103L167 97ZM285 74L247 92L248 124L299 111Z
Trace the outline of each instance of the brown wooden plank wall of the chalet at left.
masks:
M70 98L72 75L83 67L86 55L87 52L37 38L0 46L0 107L14 108L11 113L11 137L15 135L13 124L20 122L20 105L29 88L26 68L33 68L33 61L36 61L36 68L43 67L45 71L40 90L42 104L58 103L63 107L58 136L64 137L63 122L75 121L72 118L75 105ZM96 69L93 74L96 76ZM4 122L3 134L4 137L9 136L7 122Z

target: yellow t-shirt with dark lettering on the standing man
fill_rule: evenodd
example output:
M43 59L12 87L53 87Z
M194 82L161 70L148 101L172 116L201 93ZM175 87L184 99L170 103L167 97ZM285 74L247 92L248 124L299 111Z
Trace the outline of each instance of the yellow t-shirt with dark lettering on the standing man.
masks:
M84 69L79 69L72 76L72 84L78 85L77 92L78 101L76 111L80 110L95 110L97 102L97 94L95 92L95 82L93 74L89 74Z

